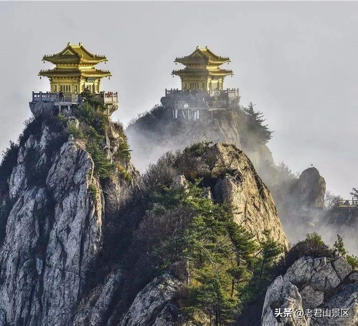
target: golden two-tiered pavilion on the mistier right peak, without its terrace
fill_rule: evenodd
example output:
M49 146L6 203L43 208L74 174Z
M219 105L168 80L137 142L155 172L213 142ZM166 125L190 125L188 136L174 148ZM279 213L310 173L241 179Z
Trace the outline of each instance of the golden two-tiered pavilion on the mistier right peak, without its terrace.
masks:
M229 63L230 58L214 54L208 46L197 46L190 55L176 58L174 62L186 66L184 69L172 71L172 75L180 77L183 90L222 90L224 78L233 75L232 70L220 68L220 65Z

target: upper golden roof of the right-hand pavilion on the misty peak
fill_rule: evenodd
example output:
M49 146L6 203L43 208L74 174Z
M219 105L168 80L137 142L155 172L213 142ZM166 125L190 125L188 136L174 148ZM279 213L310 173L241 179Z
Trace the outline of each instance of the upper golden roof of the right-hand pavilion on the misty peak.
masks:
M175 58L174 62L178 62L183 65L222 65L230 62L230 58L221 57L209 49L208 46L201 49L199 46L196 47L194 52L186 57Z

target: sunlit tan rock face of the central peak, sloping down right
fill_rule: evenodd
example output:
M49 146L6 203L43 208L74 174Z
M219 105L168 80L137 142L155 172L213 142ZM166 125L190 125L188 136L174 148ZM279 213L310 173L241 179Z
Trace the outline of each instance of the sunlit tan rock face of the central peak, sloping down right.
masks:
M234 221L257 239L266 238L265 230L270 230L275 240L288 247L274 200L250 159L233 145L218 143L210 151L215 162L212 174L220 175L213 187L214 200L232 207Z

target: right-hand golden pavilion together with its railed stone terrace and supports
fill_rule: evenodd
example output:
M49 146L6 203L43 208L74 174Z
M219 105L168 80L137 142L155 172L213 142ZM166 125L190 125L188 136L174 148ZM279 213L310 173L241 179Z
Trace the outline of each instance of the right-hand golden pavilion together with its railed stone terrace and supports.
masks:
M166 89L160 100L165 108L172 110L174 119L199 120L208 112L212 116L214 111L239 105L239 89L224 88L224 78L233 73L220 66L230 63L230 58L214 54L208 46L197 46L190 55L175 58L174 62L185 65L171 73L180 77L182 89Z

